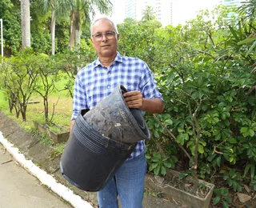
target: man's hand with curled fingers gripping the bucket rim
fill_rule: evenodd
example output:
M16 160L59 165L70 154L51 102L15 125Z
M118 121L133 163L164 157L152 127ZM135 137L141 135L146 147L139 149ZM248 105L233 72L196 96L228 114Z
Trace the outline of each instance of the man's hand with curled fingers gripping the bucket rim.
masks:
M125 98L126 105L129 108L138 108L141 109L143 106L143 97L140 91L130 91L123 94Z

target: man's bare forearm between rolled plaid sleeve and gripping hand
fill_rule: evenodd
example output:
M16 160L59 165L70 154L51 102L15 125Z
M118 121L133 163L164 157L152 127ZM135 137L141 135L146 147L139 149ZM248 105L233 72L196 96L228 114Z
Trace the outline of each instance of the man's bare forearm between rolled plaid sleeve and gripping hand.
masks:
M143 98L143 104L141 110L144 110L151 114L160 114L164 109L164 103L159 98L147 99Z

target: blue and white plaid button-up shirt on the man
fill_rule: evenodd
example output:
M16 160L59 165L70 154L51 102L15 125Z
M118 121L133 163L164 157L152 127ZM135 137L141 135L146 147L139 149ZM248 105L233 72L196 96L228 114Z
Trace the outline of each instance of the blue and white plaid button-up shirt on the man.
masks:
M128 91L139 90L143 98L160 98L154 78L146 62L118 53L109 68L102 66L99 59L78 71L74 83L73 114L74 120L80 110L92 109L103 98L111 94L118 85ZM137 157L145 151L145 142L139 141L128 159Z

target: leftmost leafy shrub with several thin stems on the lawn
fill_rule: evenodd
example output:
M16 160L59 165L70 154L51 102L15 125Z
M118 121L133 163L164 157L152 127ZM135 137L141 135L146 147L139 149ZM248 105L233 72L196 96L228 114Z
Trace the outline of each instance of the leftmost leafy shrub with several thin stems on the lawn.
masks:
M10 111L14 107L17 118L21 113L23 121L26 121L27 103L37 85L38 71L35 62L34 52L27 49L20 51L9 60L6 59L1 67L3 86L9 96Z

